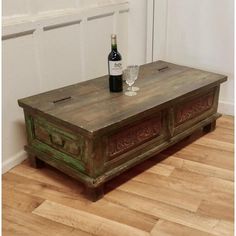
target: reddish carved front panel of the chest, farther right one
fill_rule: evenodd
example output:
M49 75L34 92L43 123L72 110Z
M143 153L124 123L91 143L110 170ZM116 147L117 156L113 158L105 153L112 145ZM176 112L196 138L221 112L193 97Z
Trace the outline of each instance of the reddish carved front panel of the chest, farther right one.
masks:
M213 103L214 91L182 104L175 111L175 127L209 110Z

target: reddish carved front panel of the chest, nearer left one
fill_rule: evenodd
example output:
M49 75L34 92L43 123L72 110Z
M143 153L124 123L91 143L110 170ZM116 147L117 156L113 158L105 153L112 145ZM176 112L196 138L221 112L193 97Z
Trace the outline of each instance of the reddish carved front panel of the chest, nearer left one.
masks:
M108 139L108 156L113 159L128 150L161 134L161 116L142 121L131 127L124 127Z

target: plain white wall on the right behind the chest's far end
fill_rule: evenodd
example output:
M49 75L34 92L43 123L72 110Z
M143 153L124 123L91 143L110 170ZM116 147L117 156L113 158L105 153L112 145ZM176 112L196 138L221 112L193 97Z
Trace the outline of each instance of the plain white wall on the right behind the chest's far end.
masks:
M227 75L219 111L234 112L234 1L155 0L154 60Z

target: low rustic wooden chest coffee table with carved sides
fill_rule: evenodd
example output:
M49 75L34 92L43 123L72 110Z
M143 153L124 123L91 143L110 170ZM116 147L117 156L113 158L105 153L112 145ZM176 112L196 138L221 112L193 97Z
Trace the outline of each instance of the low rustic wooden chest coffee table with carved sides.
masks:
M108 76L20 99L32 165L83 182L91 200L132 166L203 128L215 128L224 75L164 61L142 65L134 97L110 93Z

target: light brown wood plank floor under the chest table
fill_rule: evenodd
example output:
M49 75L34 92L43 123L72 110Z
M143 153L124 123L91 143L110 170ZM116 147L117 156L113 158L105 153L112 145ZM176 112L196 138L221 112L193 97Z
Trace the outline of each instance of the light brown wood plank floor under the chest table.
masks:
M96 203L59 171L25 161L3 176L3 235L233 235L234 128L167 149L106 185Z

